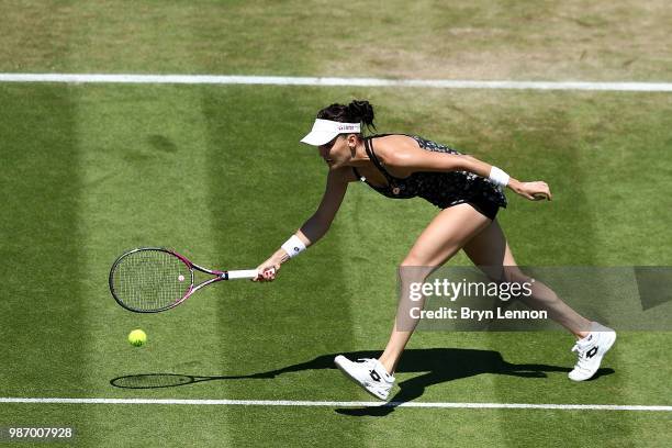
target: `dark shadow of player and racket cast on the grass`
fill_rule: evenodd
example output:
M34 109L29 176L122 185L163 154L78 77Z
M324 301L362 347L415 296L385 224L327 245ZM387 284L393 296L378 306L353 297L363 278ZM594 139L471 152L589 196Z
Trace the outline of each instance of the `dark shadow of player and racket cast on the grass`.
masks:
M178 373L143 373L119 377L110 380L110 384L122 389L159 389L175 388L203 381L271 379L282 373L303 370L336 369L334 358L344 355L349 359L374 358L380 351L351 351L345 354L323 355L306 362L287 366L277 370L242 376L199 377ZM459 380L481 373L506 374L523 378L547 378L547 372L569 372L567 367L511 363L502 358L499 351L463 348L425 348L404 351L396 369L397 373L423 373L399 384L400 391L388 403L378 406L356 408L337 408L336 412L352 416L383 416L394 411L399 405L423 395L425 389L446 381ZM600 369L594 379L614 373L613 369Z

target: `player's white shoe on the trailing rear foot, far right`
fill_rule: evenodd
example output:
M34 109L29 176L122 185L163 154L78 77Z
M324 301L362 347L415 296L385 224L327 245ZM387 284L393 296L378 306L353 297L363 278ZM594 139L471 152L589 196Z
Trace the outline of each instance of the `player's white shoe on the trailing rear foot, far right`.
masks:
M602 358L612 348L615 340L616 332L593 322L591 333L583 339L576 340L572 348L572 351L576 351L579 355L579 360L574 370L569 372L570 380L585 381L593 378L600 369Z

